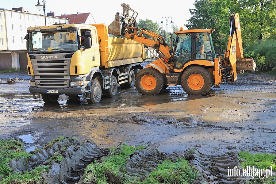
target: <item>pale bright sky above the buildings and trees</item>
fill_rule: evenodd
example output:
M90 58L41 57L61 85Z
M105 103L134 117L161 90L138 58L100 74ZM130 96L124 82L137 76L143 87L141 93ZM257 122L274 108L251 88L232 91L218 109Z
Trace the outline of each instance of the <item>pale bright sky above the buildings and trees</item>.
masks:
M42 0L39 0L42 5ZM76 2L79 2L76 4ZM166 18L168 22L172 21L178 27L184 27L183 24L187 23L190 18L189 9L194 8L195 0L190 1L179 1L177 3L169 4L163 3L161 1L130 1L130 0L45 0L45 10L46 13L53 11L56 16L61 14L76 14L88 13L90 12L94 17L97 24L106 23L109 25L114 21L114 16L117 12L122 13L121 3L129 4L130 7L138 12L139 19L150 19L153 22L160 23L163 18L163 29L166 31ZM0 8L5 8L7 10L12 10L12 8L23 7L24 10L29 11L29 13L44 14L41 9L38 11L36 9L37 0L0 0ZM171 31L170 24L168 25L168 31ZM185 28L184 28L185 29Z

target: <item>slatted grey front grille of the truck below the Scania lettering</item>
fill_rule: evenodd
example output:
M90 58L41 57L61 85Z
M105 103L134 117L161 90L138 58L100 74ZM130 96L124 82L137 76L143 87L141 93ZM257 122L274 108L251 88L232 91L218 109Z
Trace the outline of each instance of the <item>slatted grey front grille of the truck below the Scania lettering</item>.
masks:
M59 57L60 58L60 57ZM32 59L36 87L67 88L70 83L70 58L64 60Z

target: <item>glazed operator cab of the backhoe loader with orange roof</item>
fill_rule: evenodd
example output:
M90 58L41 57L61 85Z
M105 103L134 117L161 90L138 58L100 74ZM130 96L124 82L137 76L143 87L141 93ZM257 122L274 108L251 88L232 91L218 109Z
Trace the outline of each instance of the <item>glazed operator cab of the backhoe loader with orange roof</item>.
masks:
M175 32L177 34L174 44L174 67L176 69L182 69L190 61L213 61L215 59L212 31L199 31L201 30Z

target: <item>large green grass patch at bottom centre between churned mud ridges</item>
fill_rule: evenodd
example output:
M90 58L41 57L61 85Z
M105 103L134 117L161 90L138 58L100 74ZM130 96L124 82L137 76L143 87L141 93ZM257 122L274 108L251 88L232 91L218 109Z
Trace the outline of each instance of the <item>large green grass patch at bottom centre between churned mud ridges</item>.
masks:
M107 172L119 178L122 184L153 184L153 183L183 183L191 184L199 177L199 171L189 165L185 159L179 159L175 163L171 161L163 161L148 176L142 173L136 176L128 175L125 170L127 158L136 150L144 149L143 146L133 147L122 144L117 148L112 148L112 154L102 158L101 162L91 163L86 167L85 179L82 182L95 182L97 184L107 184ZM140 178L143 178L141 180Z

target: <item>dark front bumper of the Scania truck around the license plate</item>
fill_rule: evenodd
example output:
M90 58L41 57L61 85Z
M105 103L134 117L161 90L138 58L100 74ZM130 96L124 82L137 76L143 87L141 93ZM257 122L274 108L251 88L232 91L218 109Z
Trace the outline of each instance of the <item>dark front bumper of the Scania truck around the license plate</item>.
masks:
M58 90L58 93L46 93L46 90ZM67 96L75 96L84 94L85 86L70 86L68 88L37 88L36 86L30 86L29 91L32 94L65 94Z

